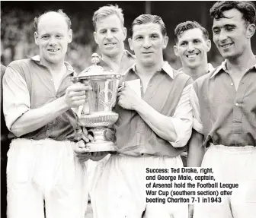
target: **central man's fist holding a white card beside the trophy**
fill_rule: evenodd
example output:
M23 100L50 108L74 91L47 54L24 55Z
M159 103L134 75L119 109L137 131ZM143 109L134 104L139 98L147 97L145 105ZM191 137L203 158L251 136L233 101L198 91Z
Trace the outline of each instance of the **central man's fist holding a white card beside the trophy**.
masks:
M134 106L139 104L141 98L129 87L119 87L117 90L117 103L123 109L134 110Z

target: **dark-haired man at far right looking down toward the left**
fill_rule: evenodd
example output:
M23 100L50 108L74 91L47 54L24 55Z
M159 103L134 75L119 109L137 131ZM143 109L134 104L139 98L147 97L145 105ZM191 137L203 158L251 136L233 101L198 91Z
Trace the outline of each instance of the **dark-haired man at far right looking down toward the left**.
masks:
M191 103L203 134L203 167L213 168L216 182L238 183L221 204L195 204L194 218L252 218L256 214L256 58L252 2L216 2L213 41L225 61L194 82Z

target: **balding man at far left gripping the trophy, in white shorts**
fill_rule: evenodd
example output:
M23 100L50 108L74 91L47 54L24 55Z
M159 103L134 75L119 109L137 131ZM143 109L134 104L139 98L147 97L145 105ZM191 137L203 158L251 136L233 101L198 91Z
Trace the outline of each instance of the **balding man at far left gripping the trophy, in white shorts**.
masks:
M86 169L73 150L86 151L75 141L88 138L71 108L85 103L91 87L69 79L75 73L64 62L72 41L69 17L46 12L34 26L39 55L11 62L3 78L5 122L12 133L8 217L81 218L87 205Z

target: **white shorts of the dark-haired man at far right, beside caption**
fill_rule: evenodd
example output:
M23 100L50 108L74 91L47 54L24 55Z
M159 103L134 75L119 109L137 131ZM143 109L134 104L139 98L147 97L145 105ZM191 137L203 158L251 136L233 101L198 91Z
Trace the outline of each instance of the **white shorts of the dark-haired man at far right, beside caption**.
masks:
M195 204L193 218L254 218L256 216L256 147L211 145L202 167L213 168L216 182L238 183L222 204Z

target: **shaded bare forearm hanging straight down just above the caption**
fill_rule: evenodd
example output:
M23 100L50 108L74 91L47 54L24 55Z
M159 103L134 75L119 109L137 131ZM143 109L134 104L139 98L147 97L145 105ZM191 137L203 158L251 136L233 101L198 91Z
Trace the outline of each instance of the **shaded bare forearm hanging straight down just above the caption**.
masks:
M198 133L193 129L192 135L188 144L187 166L201 166L205 147L203 147L203 134Z

